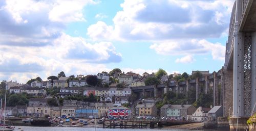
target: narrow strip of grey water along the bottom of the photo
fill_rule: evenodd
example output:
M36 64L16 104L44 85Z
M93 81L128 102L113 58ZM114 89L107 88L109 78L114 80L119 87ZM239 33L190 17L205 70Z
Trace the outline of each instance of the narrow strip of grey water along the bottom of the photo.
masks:
M91 127L37 127L37 126L16 126L15 127L15 131L18 131L20 129L24 129L26 131L94 131L94 128ZM96 128L96 131L139 131L139 130L143 130L143 131L164 131L164 130L177 130L177 131L185 131L182 129L110 129L110 128ZM187 130L186 130L187 131ZM198 130L198 131L203 131L203 130Z

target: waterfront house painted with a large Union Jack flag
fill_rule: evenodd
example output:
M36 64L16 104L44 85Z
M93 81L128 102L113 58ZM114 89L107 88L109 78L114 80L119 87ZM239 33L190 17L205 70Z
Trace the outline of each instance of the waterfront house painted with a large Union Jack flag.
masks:
M131 110L126 107L113 107L109 109L108 115L114 117L128 117L131 116Z

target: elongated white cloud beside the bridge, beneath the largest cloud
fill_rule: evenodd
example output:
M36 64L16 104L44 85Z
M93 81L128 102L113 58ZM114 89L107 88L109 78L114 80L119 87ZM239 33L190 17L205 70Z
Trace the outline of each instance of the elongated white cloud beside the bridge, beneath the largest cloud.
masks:
M198 55L211 53L212 59L224 60L225 46L220 43L211 43L207 40L176 40L154 43L150 46L160 55ZM180 62L180 59L178 60Z

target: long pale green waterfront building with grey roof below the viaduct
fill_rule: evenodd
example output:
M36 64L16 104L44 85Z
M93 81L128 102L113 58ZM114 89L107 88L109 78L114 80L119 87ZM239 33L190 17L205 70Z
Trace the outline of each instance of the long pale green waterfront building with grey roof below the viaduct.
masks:
M170 106L165 106L162 110L166 110L166 113L164 113L165 111L161 111L160 109L160 114L163 115L160 117L178 120L191 120L192 114L197 109L191 104L172 104Z

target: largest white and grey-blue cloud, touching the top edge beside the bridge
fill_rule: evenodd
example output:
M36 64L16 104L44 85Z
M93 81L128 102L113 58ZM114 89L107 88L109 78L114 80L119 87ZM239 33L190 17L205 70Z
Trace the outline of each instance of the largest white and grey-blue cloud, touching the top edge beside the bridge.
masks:
M233 0L222 2L124 1L121 4L123 10L117 12L113 18L114 25L107 25L100 21L100 24L94 24L95 26L99 25L100 32L88 29L88 35L94 40L102 38L110 40L169 40L220 37L228 28Z

